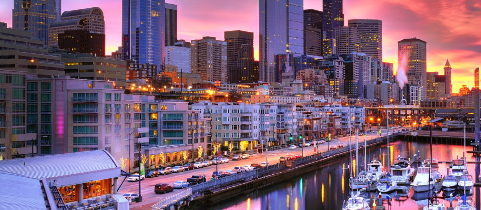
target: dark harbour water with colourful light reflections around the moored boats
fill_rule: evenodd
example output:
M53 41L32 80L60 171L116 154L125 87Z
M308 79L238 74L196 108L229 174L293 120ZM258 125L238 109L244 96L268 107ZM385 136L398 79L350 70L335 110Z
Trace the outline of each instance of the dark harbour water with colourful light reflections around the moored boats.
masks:
M414 154L418 151L420 160L429 158L429 144L417 142L391 142L390 143L390 159L394 159L398 155L413 159ZM468 150L471 150L468 147ZM386 146L373 147L367 149L367 162L373 158L381 159L385 163L384 157L387 154ZM432 157L437 158L439 162L461 158L463 154L463 146L460 145L441 145L434 144L432 146ZM364 150L359 152L358 165L364 165ZM361 158L362 157L362 158ZM468 153L467 160L475 161L471 153ZM229 198L220 202L206 206L204 209L227 209L227 210L341 210L342 203L349 197L349 179L344 178L350 173L343 170L345 165L349 165L349 155L343 159L334 160L332 163L325 165L319 170L299 175L290 180L269 186L262 189L253 190L243 196ZM439 172L446 175L446 167L449 164L439 163ZM388 168L385 165L385 168ZM468 171L475 176L475 165L468 164ZM476 180L477 181L477 180ZM344 189L344 187L347 187ZM475 189L474 197L479 189ZM344 193L346 192L346 193ZM349 193L347 193L349 192ZM374 199L377 199L378 193L367 193L364 195L370 198L370 205L373 205ZM389 196L391 200L384 200L378 206L386 206L389 210L420 210L428 204L427 192L415 193L411 187L399 187L398 190L389 195L382 195L383 198ZM439 194L442 196L442 193ZM284 200L286 199L286 200ZM449 207L449 202L444 202ZM454 202L456 203L456 202ZM479 202L474 201L479 209Z

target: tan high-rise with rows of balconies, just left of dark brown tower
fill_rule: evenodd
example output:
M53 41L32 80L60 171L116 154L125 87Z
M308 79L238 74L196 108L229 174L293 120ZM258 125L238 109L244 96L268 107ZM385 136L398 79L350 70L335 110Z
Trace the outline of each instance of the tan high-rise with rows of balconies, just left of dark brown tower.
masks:
M204 36L191 41L190 70L202 81L228 82L227 42Z

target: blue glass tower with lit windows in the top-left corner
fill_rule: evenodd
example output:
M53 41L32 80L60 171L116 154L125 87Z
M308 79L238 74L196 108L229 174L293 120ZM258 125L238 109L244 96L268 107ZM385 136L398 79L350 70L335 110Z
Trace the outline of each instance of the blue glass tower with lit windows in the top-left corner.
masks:
M58 18L56 1L58 0L14 0L13 29L32 32L33 38L44 40L47 45L50 24Z

